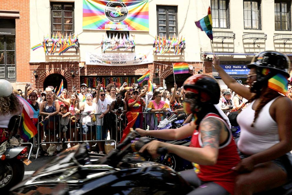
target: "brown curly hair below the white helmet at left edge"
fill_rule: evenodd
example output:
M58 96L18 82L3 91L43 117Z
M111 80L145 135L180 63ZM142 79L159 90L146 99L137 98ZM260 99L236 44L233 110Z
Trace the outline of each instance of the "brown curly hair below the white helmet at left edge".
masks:
M0 115L19 114L23 106L14 94L8 97L0 97L0 102Z

